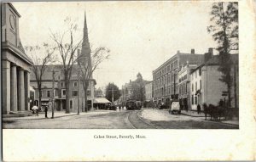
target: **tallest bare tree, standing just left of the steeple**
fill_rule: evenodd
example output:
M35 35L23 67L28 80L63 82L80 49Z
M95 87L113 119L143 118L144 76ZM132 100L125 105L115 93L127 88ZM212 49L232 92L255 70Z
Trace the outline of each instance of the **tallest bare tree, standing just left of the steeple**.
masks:
M55 42L56 49L61 56L62 71L64 74L64 82L66 88L66 113L69 111L69 83L72 75L73 64L77 61L74 59L76 50L81 46L82 39L75 41L74 33L77 31L78 25L74 25L70 18L64 20L67 24L67 31L62 33L51 32L51 38Z

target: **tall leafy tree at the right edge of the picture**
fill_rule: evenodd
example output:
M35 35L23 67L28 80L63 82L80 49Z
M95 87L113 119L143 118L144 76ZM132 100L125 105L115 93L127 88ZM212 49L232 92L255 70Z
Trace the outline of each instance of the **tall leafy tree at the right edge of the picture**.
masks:
M219 68L222 72L220 81L227 85L228 106L231 104L230 89L232 86L230 53L238 50L238 3L212 3L212 25L207 27L214 41L218 42Z

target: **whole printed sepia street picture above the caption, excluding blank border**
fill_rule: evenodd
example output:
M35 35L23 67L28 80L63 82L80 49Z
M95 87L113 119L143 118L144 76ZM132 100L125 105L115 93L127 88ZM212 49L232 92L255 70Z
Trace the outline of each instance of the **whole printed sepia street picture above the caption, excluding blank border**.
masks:
M3 3L3 128L239 128L237 2L67 3Z

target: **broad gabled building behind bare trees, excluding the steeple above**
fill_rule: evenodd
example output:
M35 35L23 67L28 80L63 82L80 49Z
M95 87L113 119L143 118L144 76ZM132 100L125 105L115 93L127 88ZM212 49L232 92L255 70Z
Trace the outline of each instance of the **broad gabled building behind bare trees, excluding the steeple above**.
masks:
M41 105L47 106L49 100L55 99L55 109L58 111L66 109L66 96L67 91L65 87L65 80L63 72L61 71L61 65L49 65L46 67L44 75L42 76L42 99ZM52 70L57 70L55 72L55 78L53 83ZM72 74L77 74L78 65L75 64L73 67ZM54 85L54 92L53 92ZM89 88L87 89L87 103L89 108L93 107L94 101L94 87L96 85L95 80L89 81ZM35 89L35 104L39 105L39 92L38 92L38 83L36 81L35 75L31 75L31 86ZM84 88L82 81L78 80L77 75L72 75L69 83L69 108L71 112L77 112L78 107L84 109Z

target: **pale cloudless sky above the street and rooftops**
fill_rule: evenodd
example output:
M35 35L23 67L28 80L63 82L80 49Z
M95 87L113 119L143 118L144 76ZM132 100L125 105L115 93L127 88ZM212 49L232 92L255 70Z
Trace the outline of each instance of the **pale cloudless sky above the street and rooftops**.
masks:
M208 2L24 2L13 3L20 13L20 39L25 46L52 42L51 31L63 31L70 17L83 36L86 10L92 49L108 47L110 58L93 77L96 87L113 82L119 88L140 72L152 81L152 72L179 50L206 53L216 47L207 32L212 3Z

